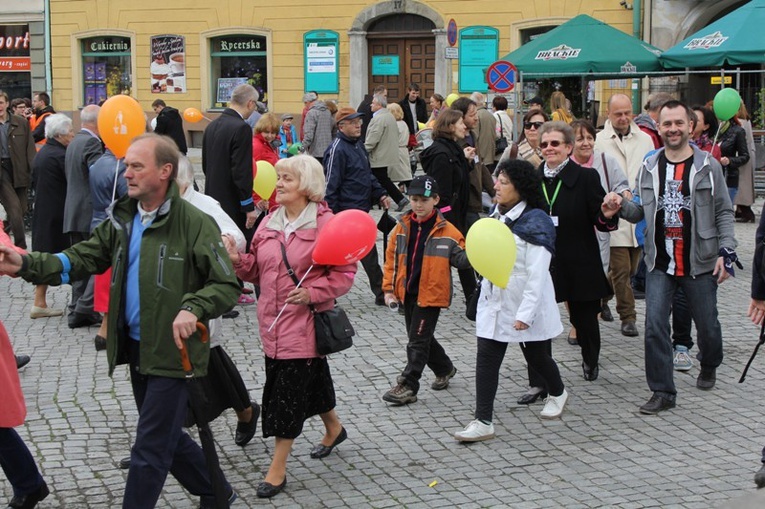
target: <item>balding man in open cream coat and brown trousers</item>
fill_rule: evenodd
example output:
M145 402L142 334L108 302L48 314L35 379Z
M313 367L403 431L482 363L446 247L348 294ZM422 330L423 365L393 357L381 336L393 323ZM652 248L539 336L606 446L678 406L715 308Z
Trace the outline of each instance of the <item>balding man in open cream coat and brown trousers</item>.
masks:
M595 138L595 150L615 157L627 174L627 182L632 184L640 171L643 158L654 149L653 142L632 120L632 100L626 95L612 95L608 100L607 113L608 120ZM611 262L608 271L616 297L616 312L622 321L621 331L629 337L639 335L635 323L637 312L631 278L637 271L642 249L635 230L636 225L620 220L619 229L611 232ZM604 310L607 306L607 302L603 304Z

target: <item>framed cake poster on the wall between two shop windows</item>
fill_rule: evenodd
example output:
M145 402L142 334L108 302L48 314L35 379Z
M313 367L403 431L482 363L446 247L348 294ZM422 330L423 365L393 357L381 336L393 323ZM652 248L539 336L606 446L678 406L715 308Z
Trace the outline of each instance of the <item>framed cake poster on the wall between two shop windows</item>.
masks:
M151 38L151 91L155 94L186 92L186 40L182 35Z

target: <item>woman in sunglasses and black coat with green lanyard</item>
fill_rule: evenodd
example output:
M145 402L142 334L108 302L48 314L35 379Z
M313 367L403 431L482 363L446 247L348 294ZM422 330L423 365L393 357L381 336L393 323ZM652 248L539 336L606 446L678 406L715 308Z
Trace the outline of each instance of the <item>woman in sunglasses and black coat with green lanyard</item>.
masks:
M595 229L618 228L617 211L601 211L606 192L600 177L571 159L574 130L565 122L548 122L539 131L544 164L544 210L556 226L555 258L551 265L555 298L568 302L571 324L582 349L584 379L598 378L601 299L611 294ZM593 226L595 228L593 228Z

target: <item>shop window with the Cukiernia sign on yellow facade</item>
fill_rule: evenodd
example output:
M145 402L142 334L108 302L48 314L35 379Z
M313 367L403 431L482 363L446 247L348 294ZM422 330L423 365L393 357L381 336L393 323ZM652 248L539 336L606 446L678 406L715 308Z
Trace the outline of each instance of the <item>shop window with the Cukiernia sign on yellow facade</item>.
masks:
M99 104L118 94L130 95L130 38L101 36L82 39L84 104Z

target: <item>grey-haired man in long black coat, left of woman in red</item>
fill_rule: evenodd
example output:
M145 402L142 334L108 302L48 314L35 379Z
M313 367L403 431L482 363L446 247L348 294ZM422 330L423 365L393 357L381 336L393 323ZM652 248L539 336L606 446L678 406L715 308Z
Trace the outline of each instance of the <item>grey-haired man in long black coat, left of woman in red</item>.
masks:
M205 194L218 200L248 246L259 211L252 199L252 130L244 119L257 108L257 98L251 85L236 87L229 107L210 122L202 138Z

